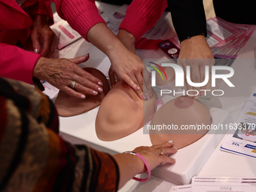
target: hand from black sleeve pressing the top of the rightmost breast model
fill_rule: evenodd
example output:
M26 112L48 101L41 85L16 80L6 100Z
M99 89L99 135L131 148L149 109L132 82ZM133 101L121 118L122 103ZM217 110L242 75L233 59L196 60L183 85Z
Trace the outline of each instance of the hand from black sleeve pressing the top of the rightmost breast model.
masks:
M204 35L196 35L190 39L185 39L181 41L181 51L178 56L178 65L182 66L184 70L184 75L186 72L186 67L190 66L190 79L194 83L200 83L205 80L205 66L209 66L209 72L211 71L211 66L214 65L214 56L212 50L207 44ZM187 77L187 76L185 76ZM199 94L194 97L198 99L200 94L203 95L204 92L200 90L206 90L206 86L203 87L191 87L187 84L187 90L197 90ZM194 91L195 92L195 91ZM196 93L190 93L196 94Z

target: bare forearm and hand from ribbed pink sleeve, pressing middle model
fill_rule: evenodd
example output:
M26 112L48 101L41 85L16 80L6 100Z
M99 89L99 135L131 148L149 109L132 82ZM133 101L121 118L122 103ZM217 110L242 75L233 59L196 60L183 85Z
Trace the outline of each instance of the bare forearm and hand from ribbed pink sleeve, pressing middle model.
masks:
M90 28L87 33L87 39L108 56L111 61L112 72L115 72L120 79L126 81L142 99L142 59L136 56L135 53L130 52L130 50L127 50L105 23L96 23L96 25ZM114 80L111 80L111 83L114 84L114 82Z

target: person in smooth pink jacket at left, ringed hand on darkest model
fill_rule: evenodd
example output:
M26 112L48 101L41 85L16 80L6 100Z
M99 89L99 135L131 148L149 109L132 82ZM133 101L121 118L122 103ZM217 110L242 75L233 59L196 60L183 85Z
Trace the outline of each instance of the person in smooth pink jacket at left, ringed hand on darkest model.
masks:
M102 91L102 82L77 66L89 55L75 59L47 59L55 49L56 35L49 25L53 15L48 0L0 0L0 76L32 84L32 77L84 99ZM15 45L31 38L35 53ZM43 40L40 50L39 40ZM41 53L41 54L38 54ZM76 81L75 89L70 86Z

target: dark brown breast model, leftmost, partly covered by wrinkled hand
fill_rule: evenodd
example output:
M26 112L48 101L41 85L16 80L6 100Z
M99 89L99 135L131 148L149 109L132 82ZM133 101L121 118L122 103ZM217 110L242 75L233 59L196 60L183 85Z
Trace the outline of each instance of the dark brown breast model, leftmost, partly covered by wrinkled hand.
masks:
M105 95L108 93L108 81L102 72L93 68L84 68L84 70L102 81L103 92L98 93L96 96L88 94L85 99L78 99L74 96L69 96L69 94L65 93L64 91L59 91L59 94L54 102L59 116L70 117L90 111L99 106Z

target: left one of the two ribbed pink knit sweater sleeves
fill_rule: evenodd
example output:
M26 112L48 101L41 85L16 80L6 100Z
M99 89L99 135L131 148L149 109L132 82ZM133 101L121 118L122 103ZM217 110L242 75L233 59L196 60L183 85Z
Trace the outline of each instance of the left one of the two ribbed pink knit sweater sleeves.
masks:
M105 23L98 13L95 0L52 0L56 11L87 40L87 32L96 23ZM88 41L88 40L87 40Z

